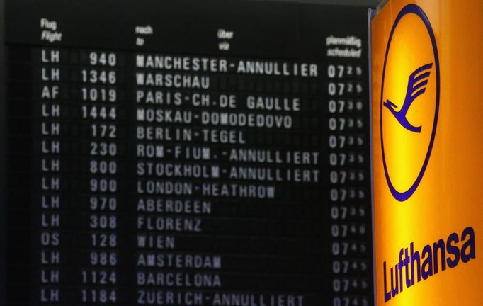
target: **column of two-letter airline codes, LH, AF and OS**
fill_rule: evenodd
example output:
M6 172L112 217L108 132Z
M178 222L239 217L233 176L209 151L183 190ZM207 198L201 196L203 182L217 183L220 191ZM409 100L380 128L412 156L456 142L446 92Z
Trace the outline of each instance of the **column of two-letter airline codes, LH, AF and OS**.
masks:
M64 300L64 291L61 285L67 280L61 264L66 261L66 254L62 251L65 244L66 233L61 225L65 225L67 216L62 210L68 209L68 200L65 198L65 188L68 185L66 179L61 179L61 171L65 171L67 165L63 154L67 153L68 145L61 140L61 132L64 134L67 128L61 123L62 108L66 108L65 98L67 89L60 84L65 70L61 70L61 60L68 57L68 53L59 49L42 48L34 51L34 57L40 59L38 71L34 75L40 76L40 122L34 125L36 143L35 150L40 152L39 158L35 158L35 172L40 174L40 194L35 196L34 205L38 213L33 213L34 228L33 241L39 243L40 249L34 248L33 256L39 268L34 273L34 282L39 284L39 291L33 294L34 305L52 305ZM38 59L35 62L38 62ZM40 210L40 211L39 211Z

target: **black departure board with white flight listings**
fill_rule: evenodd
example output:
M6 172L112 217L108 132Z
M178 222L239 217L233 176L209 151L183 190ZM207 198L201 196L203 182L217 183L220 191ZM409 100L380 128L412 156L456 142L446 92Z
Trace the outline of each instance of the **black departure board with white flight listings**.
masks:
M6 305L373 305L365 8L8 0L4 26Z

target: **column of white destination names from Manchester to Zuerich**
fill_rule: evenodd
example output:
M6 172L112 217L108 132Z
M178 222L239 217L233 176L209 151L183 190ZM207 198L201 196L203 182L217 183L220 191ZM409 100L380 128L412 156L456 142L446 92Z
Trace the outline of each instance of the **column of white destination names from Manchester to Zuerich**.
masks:
M135 61L137 304L312 305L326 281L311 252L322 211L317 65Z

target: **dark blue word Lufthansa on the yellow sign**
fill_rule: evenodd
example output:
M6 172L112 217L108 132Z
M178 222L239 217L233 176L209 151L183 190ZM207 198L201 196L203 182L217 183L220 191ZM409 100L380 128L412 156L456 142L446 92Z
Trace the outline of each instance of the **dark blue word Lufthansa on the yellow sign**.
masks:
M460 246L461 245L461 249ZM467 263L476 258L475 253L475 230L466 227L461 233L453 233L448 239L439 239L432 245L424 246L421 253L414 251L414 243L409 248L399 251L399 263L390 268L391 288L387 286L386 261L382 263L384 271L384 301L388 302L392 297L402 293L404 285L406 288L414 285L416 281L427 280L438 271L445 271L446 266L456 268L460 262ZM404 270L404 273L403 273ZM416 271L415 271L416 270ZM404 281L404 283L403 283Z

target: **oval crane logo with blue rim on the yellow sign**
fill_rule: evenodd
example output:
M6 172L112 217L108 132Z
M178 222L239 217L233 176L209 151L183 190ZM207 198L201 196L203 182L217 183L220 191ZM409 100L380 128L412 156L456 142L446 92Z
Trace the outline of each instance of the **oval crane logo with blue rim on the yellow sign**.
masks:
M380 99L382 162L396 200L413 195L428 166L438 123L439 79L431 23L419 6L404 6L387 42Z

